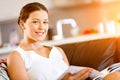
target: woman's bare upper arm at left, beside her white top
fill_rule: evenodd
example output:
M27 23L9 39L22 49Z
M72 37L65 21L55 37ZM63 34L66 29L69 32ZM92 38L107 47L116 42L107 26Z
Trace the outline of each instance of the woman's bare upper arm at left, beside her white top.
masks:
M14 51L8 56L7 66L10 80L29 80L24 62L18 52Z

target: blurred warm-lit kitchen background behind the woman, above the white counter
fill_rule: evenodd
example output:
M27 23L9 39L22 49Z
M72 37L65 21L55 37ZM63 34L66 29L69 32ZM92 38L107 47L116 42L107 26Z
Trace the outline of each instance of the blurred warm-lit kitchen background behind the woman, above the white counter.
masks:
M11 35L17 43L21 40L22 31L17 19L20 9L29 2L41 2L49 10L50 26L46 40L120 32L120 0L2 0L1 48L10 44Z

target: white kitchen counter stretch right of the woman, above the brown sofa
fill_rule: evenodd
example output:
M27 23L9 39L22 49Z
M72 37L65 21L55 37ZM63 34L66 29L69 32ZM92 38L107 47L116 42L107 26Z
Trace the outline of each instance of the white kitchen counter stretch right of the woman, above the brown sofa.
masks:
M47 46L53 46L53 45L61 45L61 44L68 44L68 43L75 43L75 42L83 42L83 41L110 38L110 37L120 37L120 33L119 34L81 35L79 37L64 38L64 39L61 39L61 40L44 41L41 44L42 45L47 45Z

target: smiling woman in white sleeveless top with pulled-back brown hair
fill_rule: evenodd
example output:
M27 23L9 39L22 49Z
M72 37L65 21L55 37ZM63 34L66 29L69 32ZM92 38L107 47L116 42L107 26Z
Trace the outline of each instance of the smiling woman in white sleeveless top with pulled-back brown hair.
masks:
M8 56L8 74L11 80L58 80L69 63L59 47L40 45L48 32L48 10L38 2L26 4L18 19L23 39ZM68 73L63 80L85 80L91 70L86 68L76 74Z

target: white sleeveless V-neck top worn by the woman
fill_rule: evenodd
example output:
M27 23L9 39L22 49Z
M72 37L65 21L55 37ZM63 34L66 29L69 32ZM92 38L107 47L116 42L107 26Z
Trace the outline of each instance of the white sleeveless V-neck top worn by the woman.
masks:
M15 50L20 53L25 63L30 80L59 80L58 78L68 68L56 47L52 47L49 58L40 56L32 50L25 51L20 47Z

